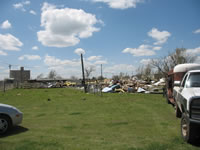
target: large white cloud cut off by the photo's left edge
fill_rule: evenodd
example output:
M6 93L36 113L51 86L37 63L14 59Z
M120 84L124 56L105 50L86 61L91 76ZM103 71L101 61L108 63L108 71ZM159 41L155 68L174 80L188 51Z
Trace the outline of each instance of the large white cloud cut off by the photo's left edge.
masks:
M23 43L12 34L0 34L0 49L19 51Z

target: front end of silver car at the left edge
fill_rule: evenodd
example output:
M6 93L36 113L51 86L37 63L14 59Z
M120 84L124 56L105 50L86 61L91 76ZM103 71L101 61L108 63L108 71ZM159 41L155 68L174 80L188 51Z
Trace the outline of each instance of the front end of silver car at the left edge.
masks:
M0 134L22 123L23 113L17 108L0 103Z

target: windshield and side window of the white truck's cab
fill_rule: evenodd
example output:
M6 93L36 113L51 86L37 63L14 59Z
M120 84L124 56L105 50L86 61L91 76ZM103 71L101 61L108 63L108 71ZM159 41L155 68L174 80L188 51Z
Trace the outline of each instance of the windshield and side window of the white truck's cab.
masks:
M194 72L190 74L186 83L186 87L200 87L200 72Z

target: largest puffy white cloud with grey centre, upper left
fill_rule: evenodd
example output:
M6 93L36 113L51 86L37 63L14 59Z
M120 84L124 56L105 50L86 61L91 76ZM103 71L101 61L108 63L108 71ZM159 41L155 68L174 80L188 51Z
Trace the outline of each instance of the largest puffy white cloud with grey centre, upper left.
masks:
M58 9L44 3L41 14L41 26L44 30L37 32L38 41L49 47L74 46L81 38L88 38L99 31L99 28L94 27L97 23L101 21L95 15L82 9Z

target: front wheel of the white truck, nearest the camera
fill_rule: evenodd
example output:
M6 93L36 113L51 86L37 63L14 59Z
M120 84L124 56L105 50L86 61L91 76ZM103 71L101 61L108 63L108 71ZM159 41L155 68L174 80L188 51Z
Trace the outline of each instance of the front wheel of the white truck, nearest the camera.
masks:
M181 118L181 135L187 143L195 143L197 140L197 127L185 114Z

